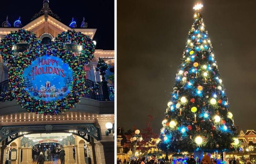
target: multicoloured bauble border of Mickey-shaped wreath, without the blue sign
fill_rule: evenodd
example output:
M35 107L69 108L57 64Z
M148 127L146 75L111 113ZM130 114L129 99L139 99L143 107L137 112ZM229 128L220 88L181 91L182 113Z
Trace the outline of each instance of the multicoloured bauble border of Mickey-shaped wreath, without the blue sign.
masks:
M16 56L14 50L12 50L12 46L20 42L27 42L29 44L29 49L25 50L19 56ZM80 44L83 49L81 54L72 54L71 51L65 49L65 43ZM93 59L94 49L95 46L89 36L86 36L81 32L70 30L57 35L55 42L49 44L42 44L40 40L37 40L37 37L33 32L24 29L5 35L3 39L1 39L0 55L3 57L3 60L8 63L10 68L9 81L11 89L7 93L1 94L0 100L5 101L15 98L18 104L26 109L27 112L35 112L44 115L57 115L60 112L75 108L84 94L97 89L97 87L90 89L85 88L84 79L86 75L83 71L83 65L86 65ZM27 81L28 79L26 77L23 77L23 71L29 67L34 60L37 58L39 60L39 57L42 56L45 56L47 59L54 58L55 56L56 59L59 58L62 60L63 63L67 64L72 70L72 82L68 82L71 85L70 93L61 99L55 101L35 99L28 93L28 90L25 89L25 87L29 88L27 84L30 84L30 82ZM43 64L50 65L47 62L48 60ZM46 97L46 94L44 94L46 92L46 87L43 84L42 86L42 97ZM51 91L52 90L52 96L56 97L56 88L54 89L54 86L51 87ZM66 91L65 88L63 91ZM34 95L37 96L37 94L39 93L35 90Z

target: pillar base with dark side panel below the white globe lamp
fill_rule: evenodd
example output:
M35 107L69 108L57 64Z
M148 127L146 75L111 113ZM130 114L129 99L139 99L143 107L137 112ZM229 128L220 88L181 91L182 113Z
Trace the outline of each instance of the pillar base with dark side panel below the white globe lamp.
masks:
M114 140L95 141L95 156L97 164L114 163Z

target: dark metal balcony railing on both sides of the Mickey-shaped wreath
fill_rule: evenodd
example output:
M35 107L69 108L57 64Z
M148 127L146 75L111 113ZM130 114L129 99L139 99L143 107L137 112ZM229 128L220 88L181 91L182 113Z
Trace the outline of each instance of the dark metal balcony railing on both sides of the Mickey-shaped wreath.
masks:
M114 86L108 86L106 81L94 82L86 79L86 88L97 87L99 83L102 85L99 90L86 94L84 98L94 99L97 101L114 101ZM10 89L9 80L0 82L0 93L6 92Z

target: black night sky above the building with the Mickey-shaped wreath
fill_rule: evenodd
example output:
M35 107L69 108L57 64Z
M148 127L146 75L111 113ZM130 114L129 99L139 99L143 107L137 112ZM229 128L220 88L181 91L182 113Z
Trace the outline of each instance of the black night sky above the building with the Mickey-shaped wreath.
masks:
M12 27L19 16L25 26L42 7L43 0L1 1L0 25L8 15ZM85 22L88 23L87 28L97 28L94 36L96 49L114 50L114 0L49 0L49 8L67 26L74 17L77 27L80 27L84 16Z

